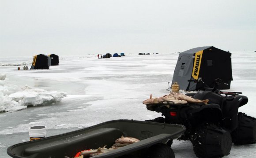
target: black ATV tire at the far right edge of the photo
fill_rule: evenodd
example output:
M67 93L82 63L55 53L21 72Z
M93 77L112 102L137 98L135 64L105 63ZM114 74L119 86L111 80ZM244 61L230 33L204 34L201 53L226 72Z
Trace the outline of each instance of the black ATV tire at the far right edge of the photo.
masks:
M238 113L238 126L231 134L235 145L256 143L256 118Z

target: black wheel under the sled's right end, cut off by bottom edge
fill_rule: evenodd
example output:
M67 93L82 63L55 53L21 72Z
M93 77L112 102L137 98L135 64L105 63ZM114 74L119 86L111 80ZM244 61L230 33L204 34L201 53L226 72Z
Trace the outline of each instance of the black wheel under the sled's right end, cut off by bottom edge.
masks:
M175 158L175 155L168 145L158 143L149 147L144 158Z

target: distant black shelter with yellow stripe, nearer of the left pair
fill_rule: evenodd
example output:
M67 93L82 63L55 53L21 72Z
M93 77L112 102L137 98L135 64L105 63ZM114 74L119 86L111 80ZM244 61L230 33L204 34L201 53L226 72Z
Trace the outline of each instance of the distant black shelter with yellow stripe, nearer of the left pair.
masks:
M49 69L51 58L44 54L35 55L30 69Z

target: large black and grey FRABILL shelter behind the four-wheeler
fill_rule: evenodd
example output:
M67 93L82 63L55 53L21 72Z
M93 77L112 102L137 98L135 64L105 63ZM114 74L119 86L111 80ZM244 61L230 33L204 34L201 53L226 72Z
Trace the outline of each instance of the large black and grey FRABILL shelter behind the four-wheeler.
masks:
M209 87L214 87L215 79L220 78L228 85L219 85L218 89L230 89L232 78L231 53L210 47L198 47L181 52L173 73L173 81L180 89L194 91L201 84L188 80L202 79Z

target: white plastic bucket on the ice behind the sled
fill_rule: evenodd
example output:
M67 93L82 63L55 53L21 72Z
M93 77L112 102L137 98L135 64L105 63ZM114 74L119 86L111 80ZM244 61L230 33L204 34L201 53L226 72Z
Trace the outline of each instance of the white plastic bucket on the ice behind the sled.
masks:
M33 126L29 128L29 136L31 140L40 140L46 136L46 127L43 125Z

